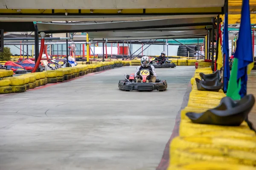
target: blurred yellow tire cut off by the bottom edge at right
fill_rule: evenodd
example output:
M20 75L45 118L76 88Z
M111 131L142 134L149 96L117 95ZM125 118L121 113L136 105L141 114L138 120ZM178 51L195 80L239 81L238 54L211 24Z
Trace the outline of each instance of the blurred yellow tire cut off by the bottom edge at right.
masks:
M169 165L167 170L256 170L256 167L223 161L196 161L186 164Z

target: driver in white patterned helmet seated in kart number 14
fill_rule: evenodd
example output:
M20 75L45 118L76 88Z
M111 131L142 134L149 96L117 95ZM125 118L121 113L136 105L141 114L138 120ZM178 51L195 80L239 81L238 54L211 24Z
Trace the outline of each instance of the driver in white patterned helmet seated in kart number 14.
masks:
M149 65L149 62L150 61L149 61L148 56L143 56L141 58L141 61L140 61L141 66L137 67L136 73L134 74L135 78L139 77L140 71L142 69L148 69L149 72L150 72L150 76L149 76L148 82L156 82L157 74L155 72L155 68L154 68L153 65ZM139 78L137 79L137 82L141 82L141 81L142 81L141 79L139 79Z

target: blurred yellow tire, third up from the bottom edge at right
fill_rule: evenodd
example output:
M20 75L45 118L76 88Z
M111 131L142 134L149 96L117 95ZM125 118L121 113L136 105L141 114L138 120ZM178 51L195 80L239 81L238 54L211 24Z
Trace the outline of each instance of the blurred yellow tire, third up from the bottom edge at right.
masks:
M218 148L222 150L243 150L256 153L256 138L228 138L228 137L205 137L205 136L187 136L175 137L172 140L171 150L189 149L189 148Z

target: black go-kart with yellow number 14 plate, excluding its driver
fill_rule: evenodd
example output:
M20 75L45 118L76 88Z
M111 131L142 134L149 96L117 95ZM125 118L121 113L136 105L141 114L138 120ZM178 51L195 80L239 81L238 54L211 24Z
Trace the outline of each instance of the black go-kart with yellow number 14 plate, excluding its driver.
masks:
M134 74L125 75L125 80L119 80L118 87L122 91L165 91L167 88L166 80L160 80L158 77L156 82L148 82L150 72L148 69L142 69L140 71L140 79L142 82L137 82L137 78Z

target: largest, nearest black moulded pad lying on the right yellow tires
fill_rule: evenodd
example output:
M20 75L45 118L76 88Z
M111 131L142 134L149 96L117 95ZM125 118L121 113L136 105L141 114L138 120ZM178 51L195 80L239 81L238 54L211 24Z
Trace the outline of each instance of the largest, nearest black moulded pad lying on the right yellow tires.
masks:
M221 99L220 104L204 113L186 113L193 123L221 126L239 126L247 119L253 108L255 98L252 94L244 96L238 102L230 97Z

